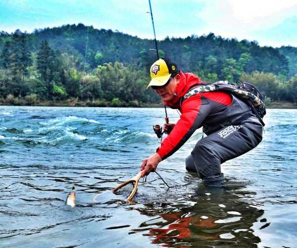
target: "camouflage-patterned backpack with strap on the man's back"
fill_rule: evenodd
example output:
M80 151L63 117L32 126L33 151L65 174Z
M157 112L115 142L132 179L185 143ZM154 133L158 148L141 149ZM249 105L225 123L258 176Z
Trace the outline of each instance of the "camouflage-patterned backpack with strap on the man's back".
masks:
M248 106L250 106L252 112L259 119L262 126L264 126L265 124L262 119L266 115L266 107L264 104L263 95L253 84L241 81L240 83L240 85L237 85L229 81L217 81L213 84L196 86L190 89L183 96L182 101L198 93L204 93L209 91L225 91L238 97Z

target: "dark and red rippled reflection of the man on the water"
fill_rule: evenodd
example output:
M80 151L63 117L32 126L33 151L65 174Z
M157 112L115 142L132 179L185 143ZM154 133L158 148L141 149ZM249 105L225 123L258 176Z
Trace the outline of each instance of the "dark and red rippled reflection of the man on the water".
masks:
M136 209L150 219L131 233L147 230L143 235L152 244L165 247L257 247L261 240L252 227L264 210L244 200L253 194L244 190L244 186L229 183L224 188L199 186L180 202L145 203Z

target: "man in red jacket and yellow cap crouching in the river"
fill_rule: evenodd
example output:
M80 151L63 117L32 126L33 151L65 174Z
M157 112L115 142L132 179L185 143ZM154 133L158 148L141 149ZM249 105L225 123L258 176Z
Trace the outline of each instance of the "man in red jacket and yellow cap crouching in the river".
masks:
M205 186L221 186L221 164L256 147L262 140L262 124L246 103L230 93L191 94L191 89L205 83L195 74L178 70L169 59L154 62L150 73L147 88L152 87L164 104L178 109L181 116L176 124L164 124L168 136L156 153L143 160L141 176L155 171L162 160L175 153L202 126L207 136L197 142L185 159L185 168L197 173Z

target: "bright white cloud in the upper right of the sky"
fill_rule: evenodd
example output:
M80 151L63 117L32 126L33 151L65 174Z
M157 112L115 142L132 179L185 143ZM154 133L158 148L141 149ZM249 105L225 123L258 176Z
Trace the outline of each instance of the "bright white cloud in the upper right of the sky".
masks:
M257 40L256 32L277 27L296 16L296 0L197 0L204 3L198 16L204 21L201 33ZM277 39L277 37L275 37Z

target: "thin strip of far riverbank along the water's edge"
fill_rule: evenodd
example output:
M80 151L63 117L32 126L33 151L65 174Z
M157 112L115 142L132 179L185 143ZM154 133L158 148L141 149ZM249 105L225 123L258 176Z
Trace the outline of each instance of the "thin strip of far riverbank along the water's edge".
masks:
M40 106L40 107L126 107L126 108L161 108L161 103L138 103L136 101L129 103L120 103L119 105L112 104L110 102L103 101L45 101L29 104L25 101L19 101L18 103L0 102L0 106ZM297 109L297 104L290 102L272 102L267 105L268 109Z

